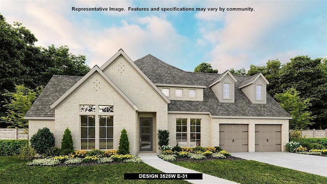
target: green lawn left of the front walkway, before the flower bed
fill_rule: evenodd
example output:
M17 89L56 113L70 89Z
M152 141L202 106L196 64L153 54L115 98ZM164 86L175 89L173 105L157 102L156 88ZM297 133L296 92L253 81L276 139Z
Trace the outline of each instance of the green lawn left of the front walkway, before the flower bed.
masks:
M162 173L144 163L94 166L27 166L0 156L0 183L189 183L184 180L124 180L124 173Z

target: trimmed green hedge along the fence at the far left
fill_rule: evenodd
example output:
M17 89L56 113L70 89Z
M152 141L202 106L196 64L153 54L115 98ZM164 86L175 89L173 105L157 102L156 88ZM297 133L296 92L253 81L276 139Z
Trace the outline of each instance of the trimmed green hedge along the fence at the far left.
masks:
M19 149L29 144L29 140L0 140L0 156L19 154Z

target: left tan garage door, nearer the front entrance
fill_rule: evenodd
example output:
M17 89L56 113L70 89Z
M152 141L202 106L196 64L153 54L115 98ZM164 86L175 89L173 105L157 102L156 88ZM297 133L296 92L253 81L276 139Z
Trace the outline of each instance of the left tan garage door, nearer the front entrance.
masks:
M228 152L247 152L248 125L220 124L219 146Z

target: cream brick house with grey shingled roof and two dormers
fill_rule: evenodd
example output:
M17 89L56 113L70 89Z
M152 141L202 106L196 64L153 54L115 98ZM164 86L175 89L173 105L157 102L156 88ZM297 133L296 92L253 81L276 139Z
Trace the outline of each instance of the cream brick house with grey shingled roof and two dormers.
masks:
M159 129L170 146L284 151L291 117L268 83L262 74L185 72L152 55L133 62L119 50L83 77L53 76L25 119L30 135L48 127L58 147L68 127L76 150L117 150L125 128L133 155L160 153Z

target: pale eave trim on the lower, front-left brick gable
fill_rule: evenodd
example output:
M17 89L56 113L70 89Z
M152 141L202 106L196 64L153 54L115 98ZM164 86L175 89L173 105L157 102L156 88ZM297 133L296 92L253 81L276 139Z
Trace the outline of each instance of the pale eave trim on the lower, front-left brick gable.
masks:
M127 103L130 104L135 110L138 110L138 107L123 93L123 91L116 86L109 78L106 76L99 68L98 65L95 65L92 70L90 70L82 79L80 79L76 84L73 85L73 87L69 88L66 93L64 93L58 100L56 100L50 108L54 109L56 108L61 102L63 102L67 97L69 97L80 85L82 85L87 79L89 79L93 74L98 72L104 80L106 80L109 85L111 85L125 100Z

